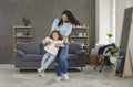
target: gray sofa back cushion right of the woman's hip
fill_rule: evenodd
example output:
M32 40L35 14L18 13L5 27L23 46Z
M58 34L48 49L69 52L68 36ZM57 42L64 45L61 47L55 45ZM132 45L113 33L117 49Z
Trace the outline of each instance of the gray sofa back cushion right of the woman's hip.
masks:
M69 54L75 54L76 53L76 51L80 51L80 50L82 50L83 48L83 46L82 46L82 44L81 43L69 43Z

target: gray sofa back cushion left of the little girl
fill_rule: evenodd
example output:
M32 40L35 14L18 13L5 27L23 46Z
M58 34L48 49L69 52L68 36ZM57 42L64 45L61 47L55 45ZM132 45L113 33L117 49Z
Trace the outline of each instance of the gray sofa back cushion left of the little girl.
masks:
M25 54L40 54L40 43L19 43L17 48L23 51Z

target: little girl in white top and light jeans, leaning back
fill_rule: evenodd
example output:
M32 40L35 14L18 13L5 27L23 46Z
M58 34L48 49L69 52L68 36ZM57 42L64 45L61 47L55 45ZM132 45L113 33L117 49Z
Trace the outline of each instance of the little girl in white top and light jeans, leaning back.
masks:
M47 53L41 61L41 67L38 68L39 76L44 76L44 70L54 61L59 47L64 47L64 44L62 42L62 35L59 31L52 31L50 36L45 37L45 40L42 41L42 44L47 44L47 46L44 46Z

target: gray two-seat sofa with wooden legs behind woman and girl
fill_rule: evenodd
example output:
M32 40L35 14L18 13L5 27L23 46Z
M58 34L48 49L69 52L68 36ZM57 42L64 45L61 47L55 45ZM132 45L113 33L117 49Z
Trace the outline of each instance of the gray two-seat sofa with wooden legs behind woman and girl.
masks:
M40 43L17 44L14 66L20 69L37 69L40 67L42 56L44 55L44 45ZM69 44L69 67L85 66L85 52L80 43ZM53 63L49 68L53 68Z

